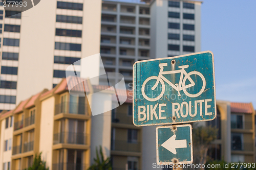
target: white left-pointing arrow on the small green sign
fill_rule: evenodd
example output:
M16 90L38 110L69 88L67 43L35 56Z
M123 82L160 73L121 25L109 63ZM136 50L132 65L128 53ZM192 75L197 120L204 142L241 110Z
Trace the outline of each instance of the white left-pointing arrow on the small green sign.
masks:
M166 140L161 146L166 150L172 152L173 154L177 154L176 148L187 148L187 140L175 140L176 135L173 135L168 140Z

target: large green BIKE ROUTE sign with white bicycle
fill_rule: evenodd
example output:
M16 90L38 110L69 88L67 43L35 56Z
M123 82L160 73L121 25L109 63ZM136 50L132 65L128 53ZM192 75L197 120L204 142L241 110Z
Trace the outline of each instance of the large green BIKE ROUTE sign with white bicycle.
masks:
M216 91L212 52L134 63L135 126L199 122L215 117Z

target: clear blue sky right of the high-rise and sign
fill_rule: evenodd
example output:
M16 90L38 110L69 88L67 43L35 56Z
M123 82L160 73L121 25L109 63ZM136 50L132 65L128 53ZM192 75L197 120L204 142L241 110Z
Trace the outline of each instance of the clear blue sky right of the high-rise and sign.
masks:
M217 100L256 108L256 1L205 0L201 50L215 57Z

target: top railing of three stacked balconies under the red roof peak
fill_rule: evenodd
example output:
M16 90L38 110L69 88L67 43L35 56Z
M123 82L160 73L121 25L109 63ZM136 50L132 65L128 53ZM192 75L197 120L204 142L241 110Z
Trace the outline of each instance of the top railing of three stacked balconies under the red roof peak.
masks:
M88 115L86 104L64 102L55 106L55 115L60 113Z

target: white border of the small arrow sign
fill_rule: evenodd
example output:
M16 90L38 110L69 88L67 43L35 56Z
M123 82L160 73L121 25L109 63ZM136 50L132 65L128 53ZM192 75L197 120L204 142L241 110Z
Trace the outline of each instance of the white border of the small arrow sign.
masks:
M159 162L159 153L158 153L158 129L163 129L163 128L172 128L173 126L177 127L189 127L190 131L190 148L191 148L191 160L190 161L182 161L178 163L173 163L173 162ZM170 136L171 137L171 136ZM187 164L187 163L193 163L193 141L192 141L192 126L190 124L186 125L172 125L172 126L158 126L156 127L156 148L157 148L157 164L158 165L176 165L176 164Z

